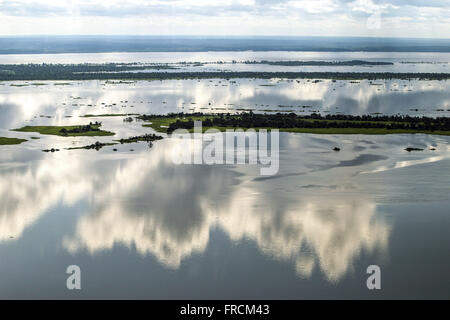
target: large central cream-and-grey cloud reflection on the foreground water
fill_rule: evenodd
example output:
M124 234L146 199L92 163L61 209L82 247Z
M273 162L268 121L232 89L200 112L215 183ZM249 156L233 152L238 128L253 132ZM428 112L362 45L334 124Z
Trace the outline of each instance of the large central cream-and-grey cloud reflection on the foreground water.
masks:
M168 156L166 145L152 155L154 166L142 158L117 169L64 247L95 254L121 244L176 269L202 253L219 227L233 241L250 239L264 254L292 263L300 276L319 267L330 281L344 276L363 250L387 250L389 224L375 217L368 198L321 192L279 206L276 193L240 182L231 170L173 167Z

